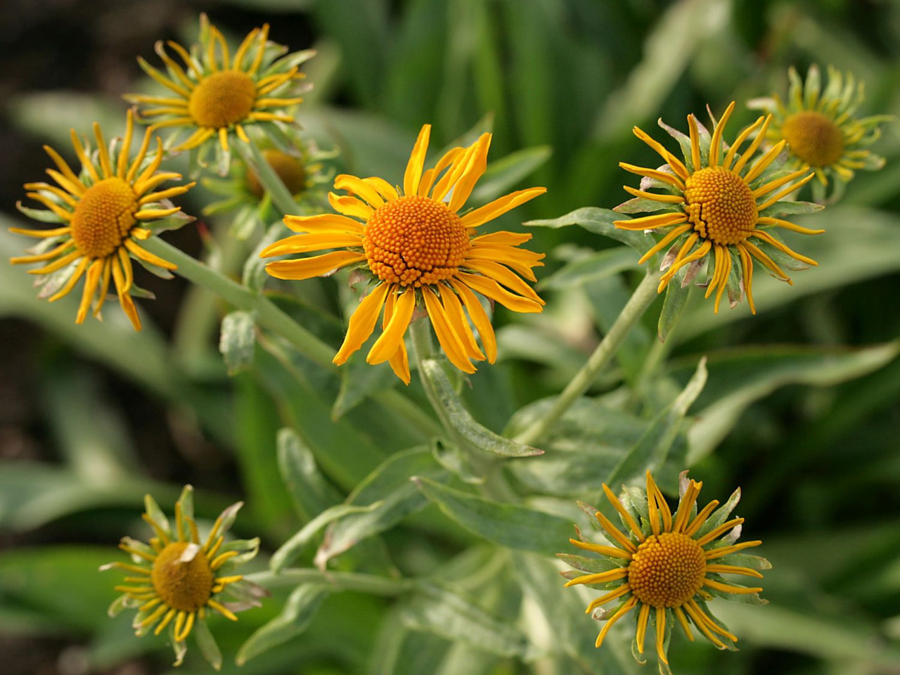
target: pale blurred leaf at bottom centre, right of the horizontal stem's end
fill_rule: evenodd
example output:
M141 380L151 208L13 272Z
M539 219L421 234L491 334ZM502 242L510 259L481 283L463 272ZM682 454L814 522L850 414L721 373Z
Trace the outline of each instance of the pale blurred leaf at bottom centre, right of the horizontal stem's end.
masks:
M509 622L491 617L460 590L425 581L419 583L418 590L402 610L403 626L459 640L485 652L527 660L527 637Z

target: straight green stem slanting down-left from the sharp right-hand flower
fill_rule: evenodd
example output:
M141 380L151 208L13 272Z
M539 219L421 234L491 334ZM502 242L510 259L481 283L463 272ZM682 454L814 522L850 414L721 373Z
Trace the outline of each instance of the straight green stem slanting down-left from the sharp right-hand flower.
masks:
M547 410L544 418L536 420L534 424L525 429L516 437L518 443L530 446L545 436L547 431L554 426L556 421L563 417L566 410L577 401L584 392L587 392L594 382L597 374L606 366L618 348L622 345L631 328L644 316L644 312L656 300L656 288L660 283L660 272L651 269L644 279L638 284L635 293L626 302L625 307L619 313L616 321L609 327L607 334L594 353L590 355L585 365L575 374L572 381L566 385L563 392L556 397L553 406Z

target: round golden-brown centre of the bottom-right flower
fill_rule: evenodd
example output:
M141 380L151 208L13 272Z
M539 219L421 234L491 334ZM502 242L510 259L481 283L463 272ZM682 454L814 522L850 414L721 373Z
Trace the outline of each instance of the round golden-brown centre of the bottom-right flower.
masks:
M680 607L703 586L707 559L696 540L680 532L648 536L628 565L628 584L652 607Z

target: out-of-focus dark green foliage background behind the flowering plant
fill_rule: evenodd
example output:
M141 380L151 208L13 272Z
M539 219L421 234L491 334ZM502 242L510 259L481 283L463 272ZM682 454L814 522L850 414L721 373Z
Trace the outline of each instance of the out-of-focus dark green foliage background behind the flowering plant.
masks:
M633 125L662 138L658 117L685 128L688 112L700 116L707 103L721 112L737 100L733 138L756 116L740 102L784 94L790 65L851 70L867 85L863 112L900 118L900 3L888 0L4 0L4 226L21 220L21 184L48 166L40 146L70 156L69 127L121 123L121 94L146 85L136 57L154 60L155 40L193 41L201 11L232 40L270 23L273 40L319 51L306 68L315 88L299 119L321 145L341 148L352 173L399 182L422 123L434 125L436 147L490 123L491 158L525 153L519 158L536 170L522 184L548 188L505 218L510 228L625 201L621 185L634 181L617 163L658 163ZM900 673L896 124L874 149L887 166L860 173L840 205L815 216L827 234L797 243L820 267L794 275L793 288L761 278L756 317L746 304L715 316L693 297L667 343L674 382L709 355L710 382L692 409L707 424L691 438L706 456L692 476L704 481L707 500L742 486L745 536L765 540L761 554L774 565L764 584L769 607L716 607L742 651L675 640L676 672ZM184 210L201 206L187 200ZM548 252L539 278L614 243L572 230L534 229L530 247ZM194 225L166 238L208 254ZM21 239L0 232L0 251L16 255ZM469 394L477 402L487 383L504 392L478 409L482 422L501 428L512 411L558 391L608 325L598 298L626 293L637 274L550 285L544 315L502 327L506 361L482 368ZM114 311L103 324L76 327L71 306L39 302L26 277L0 267L0 670L164 672L171 655L161 639L138 640L127 618L106 617L114 580L96 567L117 557L121 535L140 532L144 491L171 509L185 482L198 489L202 516L245 500L238 533L263 536L269 552L280 545L299 527L275 468L284 410L258 378L226 376L214 335L188 358L179 352L181 280L147 281L157 302L140 303L148 329L132 334ZM633 339L644 348L654 311ZM761 365L753 358L760 345L779 345L777 357ZM619 365L627 371L626 360ZM294 421L327 418L333 387L312 390L324 402L298 404ZM371 411L349 424L336 442L362 434L377 446ZM418 440L409 436L408 445ZM356 480L354 472L331 478L344 491ZM402 548L404 530L389 536ZM435 545L452 551L453 536ZM226 662L280 601L237 625L213 623ZM389 599L335 596L307 633L242 672L380 672L371 653L391 611ZM596 658L597 672L618 672L603 652ZM424 657L406 665L423 674L432 667ZM500 659L492 672L524 669ZM192 650L181 672L208 670Z

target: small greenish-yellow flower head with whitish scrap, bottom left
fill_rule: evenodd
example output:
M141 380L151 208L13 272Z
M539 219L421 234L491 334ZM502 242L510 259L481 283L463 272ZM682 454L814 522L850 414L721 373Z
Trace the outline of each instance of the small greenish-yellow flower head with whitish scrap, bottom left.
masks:
M215 640L206 626L212 611L232 621L235 612L259 606L259 598L267 591L229 574L240 564L253 558L259 550L259 539L235 540L226 543L225 534L238 515L241 503L222 511L205 540L201 540L193 519L193 488L184 487L175 502L175 528L150 495L144 498L146 512L142 518L153 528L148 544L128 536L122 537L119 548L131 556L130 563L109 563L101 571L119 569L128 572L124 583L116 586L122 595L112 602L111 617L124 608L138 608L132 626L136 635L146 635L151 629L159 635L168 627L175 649L175 665L184 658L185 639L192 630L201 633L197 643L203 655L218 669L221 656ZM226 602L230 595L234 602Z

